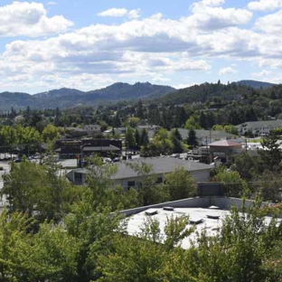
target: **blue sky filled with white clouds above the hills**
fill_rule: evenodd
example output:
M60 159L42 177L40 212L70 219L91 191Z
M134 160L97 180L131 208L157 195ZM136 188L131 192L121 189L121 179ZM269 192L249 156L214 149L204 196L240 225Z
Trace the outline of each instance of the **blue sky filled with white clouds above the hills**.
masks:
M0 1L0 92L282 82L282 0Z

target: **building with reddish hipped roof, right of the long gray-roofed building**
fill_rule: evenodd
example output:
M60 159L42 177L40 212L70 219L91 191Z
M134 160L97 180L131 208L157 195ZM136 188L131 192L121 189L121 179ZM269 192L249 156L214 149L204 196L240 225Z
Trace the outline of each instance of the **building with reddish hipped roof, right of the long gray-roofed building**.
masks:
M229 163L233 155L243 153L242 145L230 140L221 140L210 144L212 160L220 158L221 163Z

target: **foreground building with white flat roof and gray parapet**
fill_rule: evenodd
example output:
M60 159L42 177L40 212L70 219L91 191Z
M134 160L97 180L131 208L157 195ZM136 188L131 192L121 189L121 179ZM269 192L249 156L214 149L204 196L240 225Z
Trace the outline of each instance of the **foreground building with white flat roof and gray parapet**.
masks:
M248 207L253 205L253 202L246 200L244 204L245 207ZM262 206L268 204L263 202ZM165 239L164 226L167 218L189 217L187 228L193 227L195 230L191 235L184 238L180 244L180 247L183 249L189 249L191 241L196 242L197 232L201 233L203 230L206 230L207 236L217 236L222 220L230 215L231 206L237 206L240 209L243 206L243 201L241 199L218 196L198 197L174 202L163 202L120 212L127 217L127 234L130 236L141 236L142 227L148 220L148 217L158 221L162 235L160 243L164 242ZM266 224L269 224L271 219L271 217L266 217Z

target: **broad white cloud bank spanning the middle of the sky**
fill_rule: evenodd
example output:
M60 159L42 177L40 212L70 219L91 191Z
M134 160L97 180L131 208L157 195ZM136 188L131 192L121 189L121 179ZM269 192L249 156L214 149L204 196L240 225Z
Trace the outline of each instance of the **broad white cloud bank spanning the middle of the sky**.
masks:
M131 10L124 15L131 19L123 24L92 24L49 38L9 42L0 54L0 75L17 80L19 86L95 89L116 80L165 82L175 72L202 74L221 58L281 68L280 33L268 30L264 36L258 24L257 29L243 28L252 13L224 9L223 3L203 0L191 7L190 14L174 20L160 13L141 19L139 11ZM42 5L36 7L43 15L33 16L30 28L47 17ZM220 75L236 71L231 62ZM5 80L5 85L12 84Z

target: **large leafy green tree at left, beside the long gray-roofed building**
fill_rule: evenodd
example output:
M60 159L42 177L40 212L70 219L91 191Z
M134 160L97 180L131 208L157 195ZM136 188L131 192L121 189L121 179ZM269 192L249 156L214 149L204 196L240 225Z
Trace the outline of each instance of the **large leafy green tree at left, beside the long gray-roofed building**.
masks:
M40 164L12 163L11 173L5 174L1 194L7 195L12 211L25 211L29 216L35 212L39 221L59 221L63 212L79 199L80 189L71 187L57 170Z

